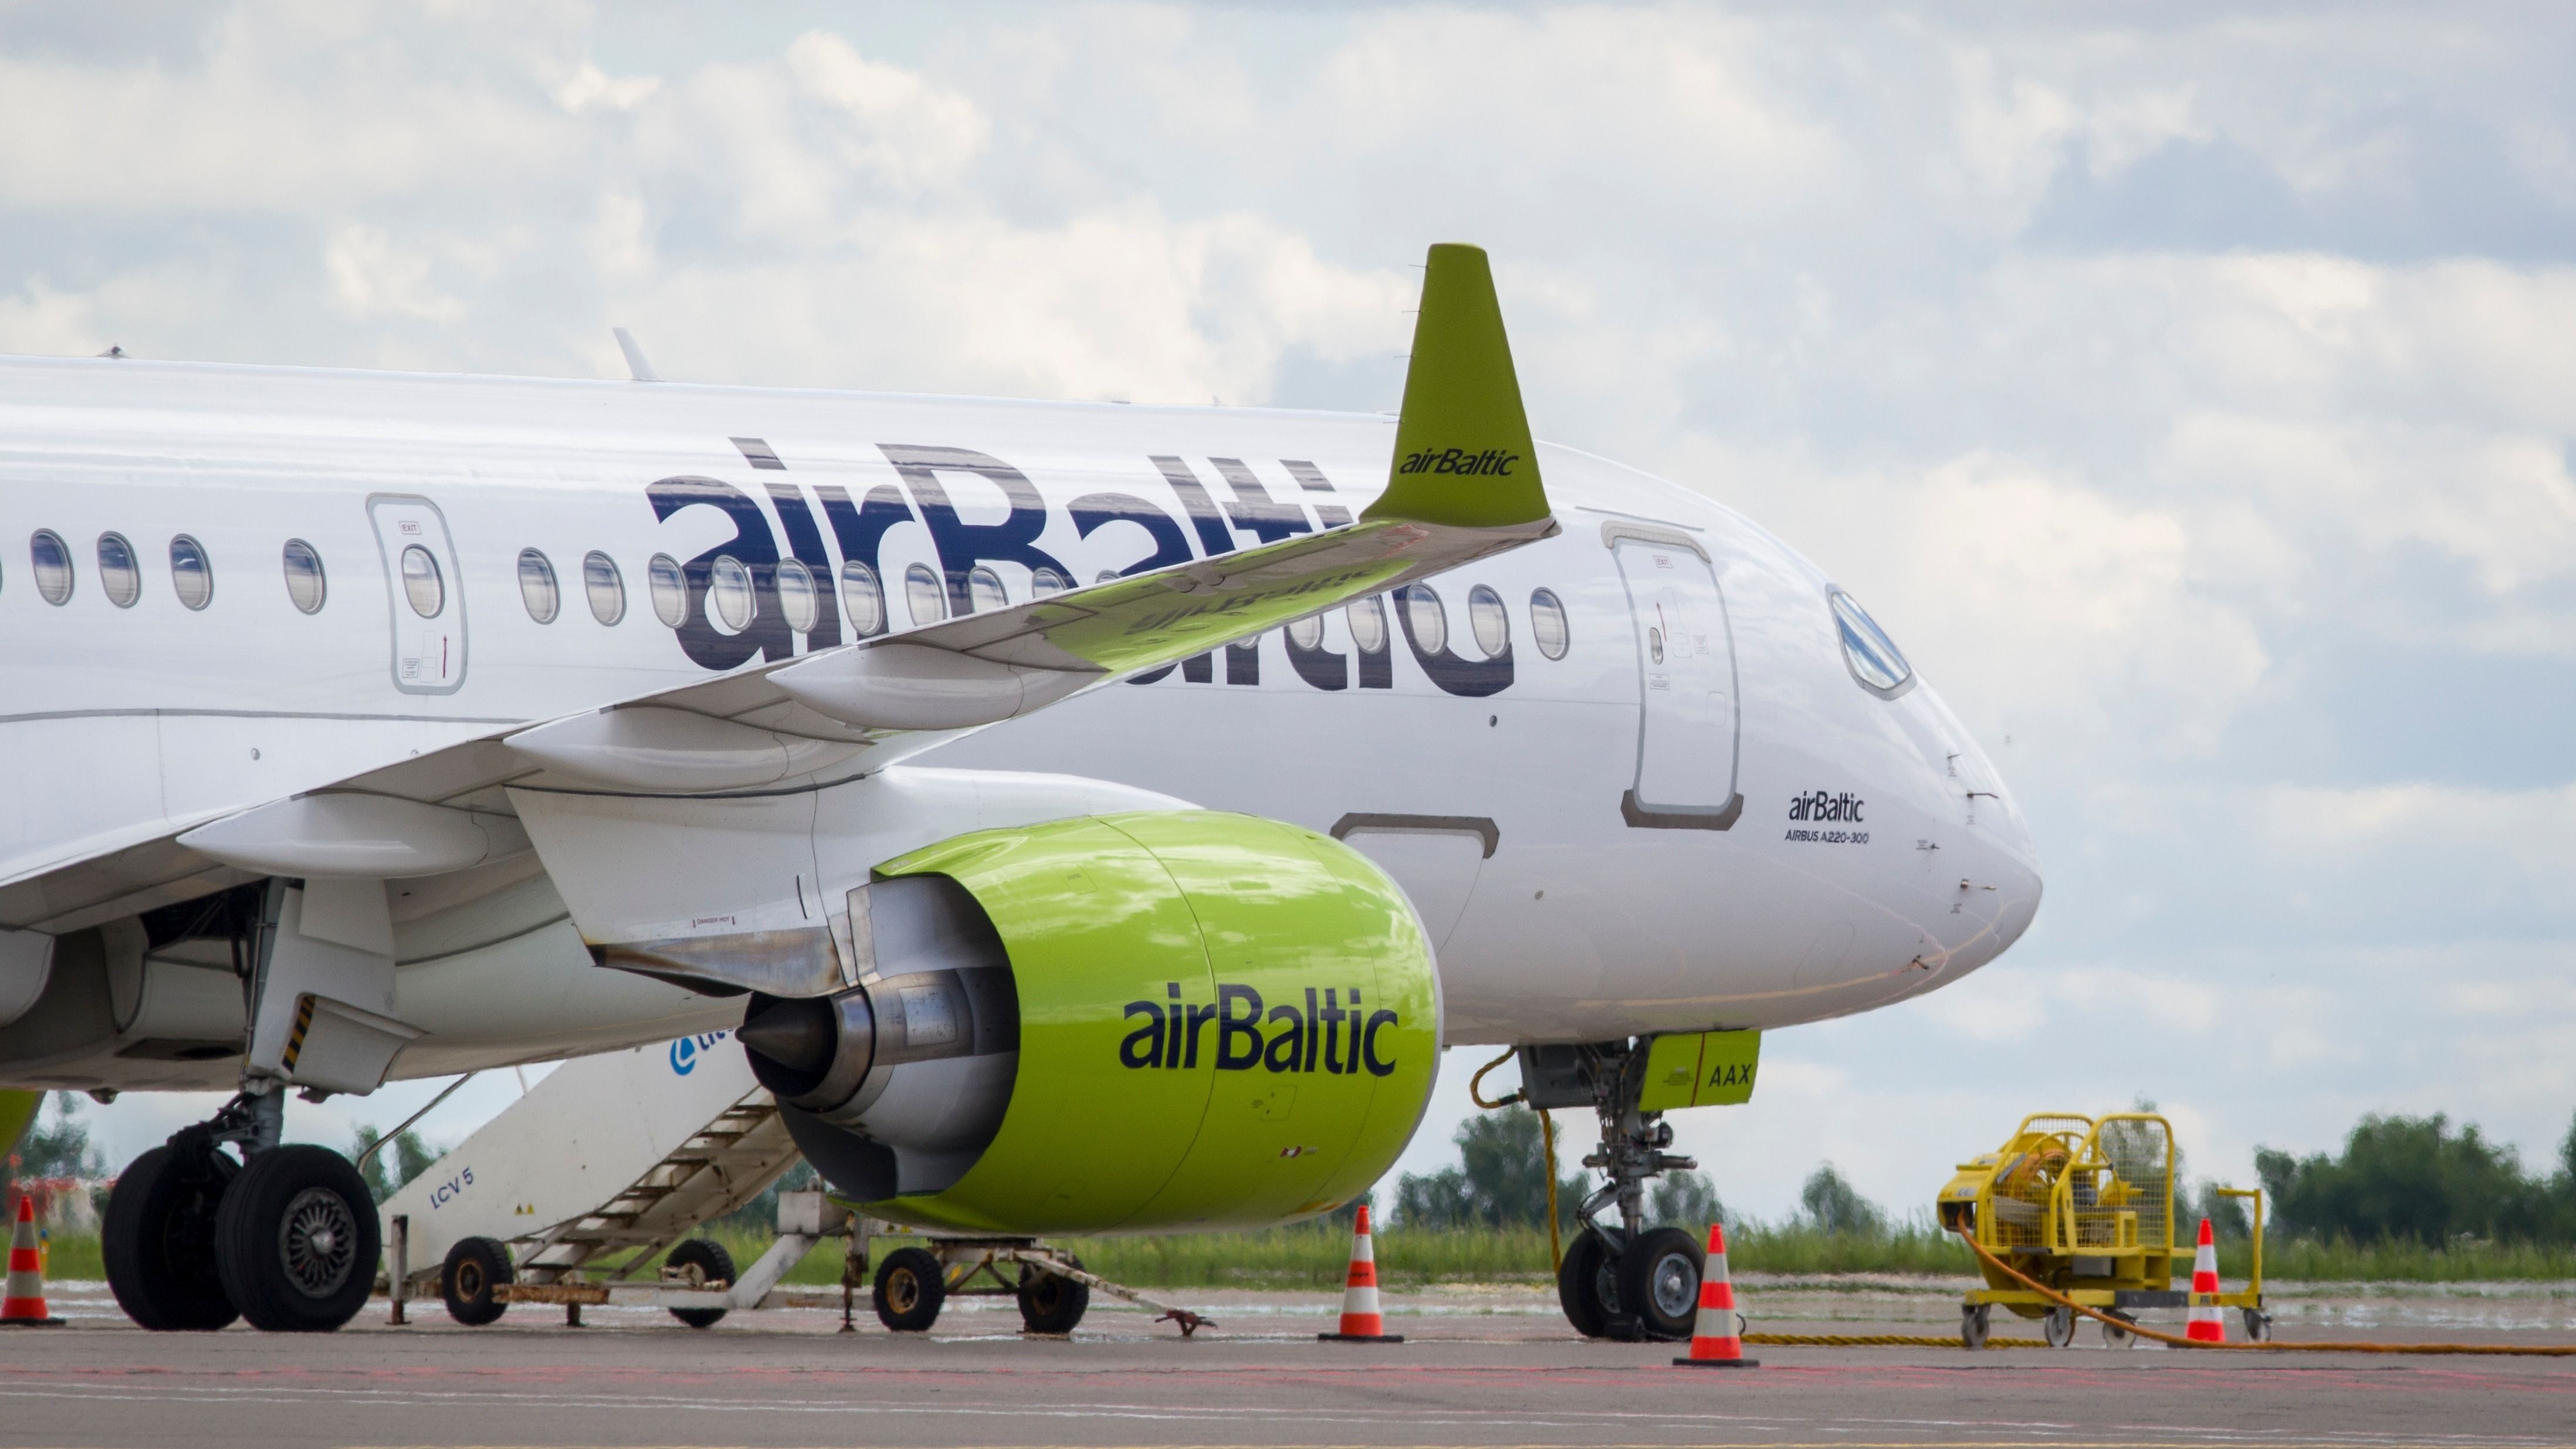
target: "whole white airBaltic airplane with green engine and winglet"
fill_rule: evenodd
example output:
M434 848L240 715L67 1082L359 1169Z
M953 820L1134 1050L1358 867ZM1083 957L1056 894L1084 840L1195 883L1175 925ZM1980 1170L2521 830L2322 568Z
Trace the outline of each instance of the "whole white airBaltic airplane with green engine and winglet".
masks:
M629 360L0 360L0 1086L237 1091L108 1202L144 1328L363 1305L289 1091L734 1032L837 1194L984 1238L1324 1215L1515 1048L1602 1127L1569 1320L1687 1336L1667 1112L2038 911L1852 592L1533 440L1476 247L1396 414Z

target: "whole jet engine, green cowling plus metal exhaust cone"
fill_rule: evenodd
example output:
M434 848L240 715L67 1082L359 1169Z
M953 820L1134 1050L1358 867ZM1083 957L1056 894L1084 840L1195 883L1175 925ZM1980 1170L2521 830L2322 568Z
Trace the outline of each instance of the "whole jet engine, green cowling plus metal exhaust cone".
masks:
M1430 1102L1422 924L1306 829L1151 811L966 834L878 865L840 939L858 986L755 993L742 1045L806 1158L894 1223L1283 1223L1376 1181Z

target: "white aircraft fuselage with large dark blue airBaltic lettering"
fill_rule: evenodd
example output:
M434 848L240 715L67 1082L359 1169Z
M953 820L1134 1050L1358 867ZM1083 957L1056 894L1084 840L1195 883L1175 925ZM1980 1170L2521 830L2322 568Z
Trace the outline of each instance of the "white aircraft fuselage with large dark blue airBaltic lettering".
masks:
M902 631L917 566L943 607L974 558L1023 602L1048 564L1090 584L1345 522L1383 486L1391 440L1370 414L0 360L0 927L39 924L8 885L59 862L848 641L845 564L873 566ZM994 471L907 476L889 461L907 448L987 456L1025 489L1015 504ZM755 466L762 450L781 466ZM2038 909L2020 811L1927 685L1862 687L1829 579L1687 489L1561 448L1540 468L1561 533L1435 579L1440 607L1388 618L1376 654L1334 610L1306 649L1273 631L917 764L1087 775L1345 834L1414 896L1453 1042L1783 1027L2012 945ZM654 492L675 479L698 481ZM62 602L39 530L70 556ZM100 566L111 533L139 561L129 605ZM211 566L204 607L175 589L178 535ZM435 620L394 564L422 538ZM312 613L289 592L289 540L322 564ZM551 566L551 623L526 602L523 551ZM616 564L616 623L585 595L590 553ZM652 558L708 553L750 566L744 631L703 592L683 631L657 618ZM811 628L788 628L770 558L824 582ZM1723 607L1659 615L1646 571L1695 566ZM1540 589L1566 618L1553 659ZM979 602L963 582L956 597ZM1489 656L1494 600L1507 643ZM541 872L520 875L484 880L479 914L397 898L397 1017L425 1035L394 1076L739 1017L595 968ZM232 1073L0 1029L8 1086Z

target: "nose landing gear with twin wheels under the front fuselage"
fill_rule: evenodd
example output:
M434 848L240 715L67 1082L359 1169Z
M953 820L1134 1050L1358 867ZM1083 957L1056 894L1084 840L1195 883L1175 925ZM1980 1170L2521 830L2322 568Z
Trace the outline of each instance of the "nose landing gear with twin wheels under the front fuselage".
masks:
M1556 1300L1584 1338L1690 1338L1700 1307L1700 1241L1682 1228L1646 1228L1646 1181L1700 1163L1664 1150L1672 1125L1662 1112L1638 1112L1643 1073L1646 1042L1520 1050L1530 1107L1592 1107L1602 1125L1602 1145L1584 1166L1605 1181L1577 1210L1584 1228L1556 1271ZM1618 1220L1602 1223L1610 1207Z

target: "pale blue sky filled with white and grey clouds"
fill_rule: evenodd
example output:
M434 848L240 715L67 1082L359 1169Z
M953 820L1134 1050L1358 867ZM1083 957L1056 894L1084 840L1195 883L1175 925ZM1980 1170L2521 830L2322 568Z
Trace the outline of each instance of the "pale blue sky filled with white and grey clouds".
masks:
M2020 1112L2141 1094L2239 1179L2362 1112L2548 1161L2571 41L2543 5L0 0L0 350L621 376L626 324L675 378L1383 409L1409 265L1473 239L1538 432L1850 584L2048 867L2004 963L1780 1032L1752 1107L1682 1122L1728 1202L1834 1158L1924 1204ZM90 1109L116 1156L178 1114Z

